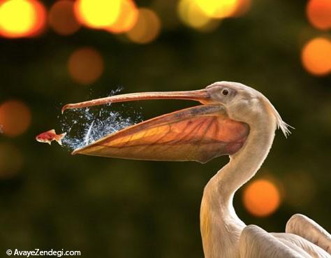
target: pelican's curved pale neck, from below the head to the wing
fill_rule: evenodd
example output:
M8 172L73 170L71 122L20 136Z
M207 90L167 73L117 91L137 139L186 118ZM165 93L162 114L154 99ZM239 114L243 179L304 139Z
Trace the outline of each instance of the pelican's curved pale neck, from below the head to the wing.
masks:
M206 258L237 257L237 244L245 227L233 208L233 196L255 175L274 139L274 120L257 120L242 149L209 180L203 194L200 220Z

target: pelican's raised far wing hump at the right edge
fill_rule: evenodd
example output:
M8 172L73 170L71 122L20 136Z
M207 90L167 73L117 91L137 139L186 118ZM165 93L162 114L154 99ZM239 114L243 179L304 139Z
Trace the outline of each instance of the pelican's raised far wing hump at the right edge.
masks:
M286 224L286 233L302 236L302 238L328 252L331 257L331 235L309 217L302 214L295 214L290 217Z

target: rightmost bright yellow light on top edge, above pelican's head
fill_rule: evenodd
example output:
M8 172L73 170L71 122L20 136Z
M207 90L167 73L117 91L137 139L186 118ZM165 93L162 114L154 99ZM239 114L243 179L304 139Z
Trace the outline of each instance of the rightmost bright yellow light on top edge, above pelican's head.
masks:
M239 0L194 0L205 15L213 18L230 17L237 10Z

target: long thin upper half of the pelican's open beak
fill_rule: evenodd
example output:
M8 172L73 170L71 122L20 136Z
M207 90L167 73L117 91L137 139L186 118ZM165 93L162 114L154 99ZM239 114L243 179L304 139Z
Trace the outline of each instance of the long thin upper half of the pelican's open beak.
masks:
M147 100L147 99L186 99L186 100L199 101L200 103L203 104L211 104L213 102L206 89L184 91L184 92L141 92L141 93L108 96L101 99L93 99L91 101L66 104L61 109L61 112L64 113L64 110L70 108L86 108L89 106L98 106L107 103L139 101L139 100Z

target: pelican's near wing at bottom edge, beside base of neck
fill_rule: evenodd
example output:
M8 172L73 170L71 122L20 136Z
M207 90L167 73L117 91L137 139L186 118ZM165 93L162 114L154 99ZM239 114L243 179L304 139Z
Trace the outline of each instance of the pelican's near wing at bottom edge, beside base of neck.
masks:
M312 258L293 245L288 247L256 225L244 228L240 235L240 258Z

